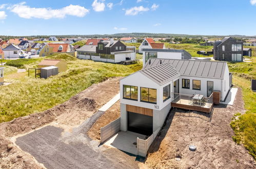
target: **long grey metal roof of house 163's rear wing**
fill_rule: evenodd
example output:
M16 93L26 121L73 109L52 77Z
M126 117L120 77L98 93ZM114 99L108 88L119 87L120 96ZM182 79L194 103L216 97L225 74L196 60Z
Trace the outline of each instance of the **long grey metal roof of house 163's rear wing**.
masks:
M206 77L223 79L227 63L224 61L207 60L179 60L151 58L146 62L143 69L169 62L182 76Z

